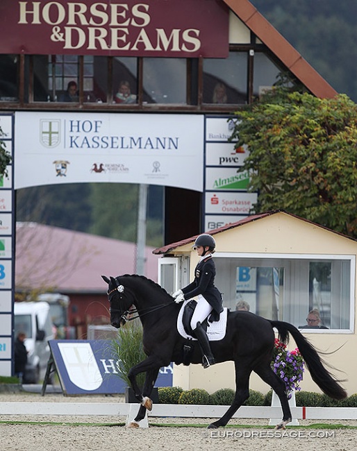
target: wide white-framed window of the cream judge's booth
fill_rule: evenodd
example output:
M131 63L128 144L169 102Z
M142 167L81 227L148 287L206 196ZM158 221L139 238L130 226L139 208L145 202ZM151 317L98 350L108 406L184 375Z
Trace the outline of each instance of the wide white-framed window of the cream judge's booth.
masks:
M353 330L351 260L217 257L216 284L231 310L245 301L255 314L288 321L309 332ZM310 318L312 310L317 316Z

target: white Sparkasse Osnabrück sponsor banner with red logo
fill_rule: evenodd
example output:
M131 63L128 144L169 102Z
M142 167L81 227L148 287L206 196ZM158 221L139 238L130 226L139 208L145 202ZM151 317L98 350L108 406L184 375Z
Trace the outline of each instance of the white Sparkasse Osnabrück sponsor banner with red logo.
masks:
M240 214L248 216L257 201L256 193L206 193L206 214ZM242 219L240 217L240 219ZM238 221L238 219L236 219Z

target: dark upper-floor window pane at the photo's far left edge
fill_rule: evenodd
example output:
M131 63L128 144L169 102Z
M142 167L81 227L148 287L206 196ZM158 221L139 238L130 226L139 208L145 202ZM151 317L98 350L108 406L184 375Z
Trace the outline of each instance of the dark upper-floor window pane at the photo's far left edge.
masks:
M17 55L0 55L0 101L15 102L19 100L17 94L18 65Z

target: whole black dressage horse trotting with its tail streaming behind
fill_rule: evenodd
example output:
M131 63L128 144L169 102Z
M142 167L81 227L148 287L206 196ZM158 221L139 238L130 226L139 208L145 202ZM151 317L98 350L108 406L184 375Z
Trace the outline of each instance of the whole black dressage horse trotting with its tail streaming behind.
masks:
M172 361L176 364L183 363L185 339L176 327L181 305L174 303L174 298L160 285L142 275L122 275L110 279L102 275L102 278L108 283L110 323L117 328L124 325L128 321L128 311L134 305L143 326L143 345L147 358L128 372L135 397L141 403L138 415L131 423L132 427L137 427L138 421L144 418L146 409L151 410L152 402L149 396L159 369L168 366ZM133 317L133 310L130 314ZM336 381L324 368L315 348L296 327L283 321L270 321L250 312L228 312L226 335L222 340L212 341L211 347L217 363L234 361L235 398L224 416L211 423L209 428L225 426L247 400L252 371L279 396L283 419L276 428L285 428L291 421L285 384L270 367L275 339L273 327L278 330L283 343L288 342L289 333L292 335L313 380L326 395L338 400L347 396L346 391L338 384L340 381ZM200 364L201 359L199 346L194 346L189 363ZM141 393L136 376L143 372L146 373L146 378Z

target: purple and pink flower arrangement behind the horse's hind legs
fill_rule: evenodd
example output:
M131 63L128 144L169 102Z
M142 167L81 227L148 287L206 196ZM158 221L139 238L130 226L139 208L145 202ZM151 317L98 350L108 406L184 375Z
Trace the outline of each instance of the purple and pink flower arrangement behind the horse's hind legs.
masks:
M298 348L290 351L286 349L285 343L275 339L272 369L284 381L288 399L291 398L292 391L301 390L299 382L304 375L304 359Z

